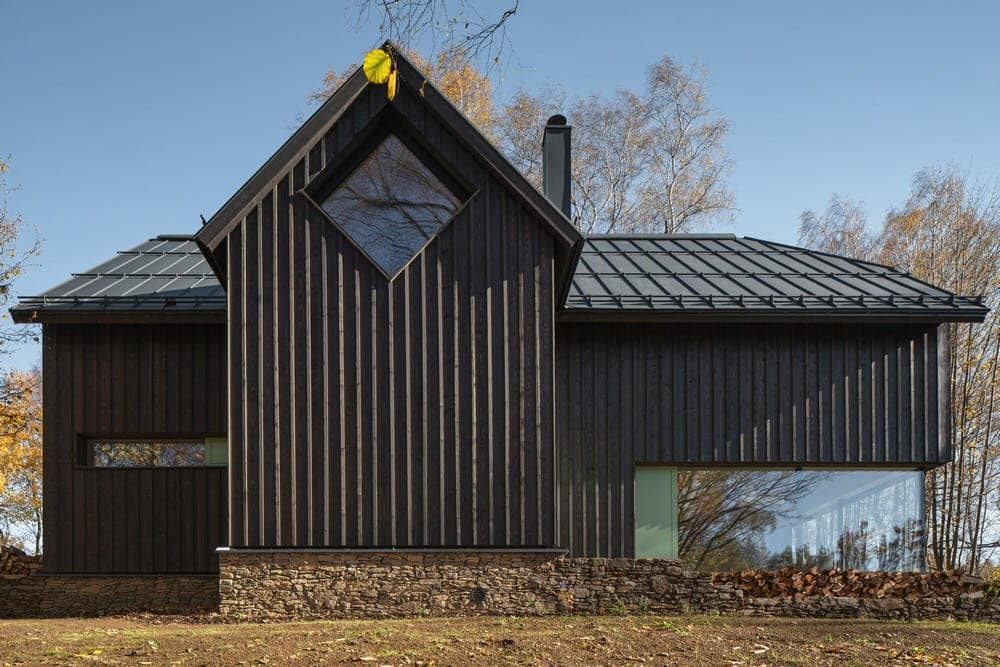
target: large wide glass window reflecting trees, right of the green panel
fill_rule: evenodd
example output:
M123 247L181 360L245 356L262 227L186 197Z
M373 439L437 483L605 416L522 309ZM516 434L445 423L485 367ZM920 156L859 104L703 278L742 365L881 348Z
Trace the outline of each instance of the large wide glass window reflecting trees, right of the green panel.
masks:
M919 471L681 470L678 556L700 570L924 569Z

